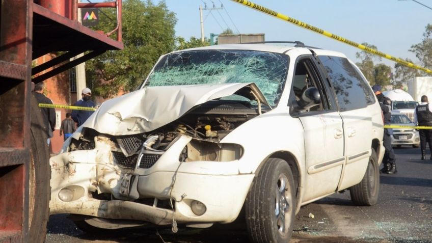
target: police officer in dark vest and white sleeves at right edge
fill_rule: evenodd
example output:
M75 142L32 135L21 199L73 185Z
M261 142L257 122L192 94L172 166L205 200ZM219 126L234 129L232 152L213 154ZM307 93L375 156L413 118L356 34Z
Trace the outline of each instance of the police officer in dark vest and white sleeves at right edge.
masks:
M427 101L427 96L421 96L421 103L417 105L416 112L414 113L414 124L419 126L432 126L432 109ZM431 151L430 160L432 160L432 130L431 129L419 129L420 133L420 148L421 148L421 159L425 159L426 154L426 143L429 143L429 149Z

